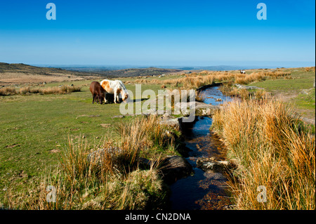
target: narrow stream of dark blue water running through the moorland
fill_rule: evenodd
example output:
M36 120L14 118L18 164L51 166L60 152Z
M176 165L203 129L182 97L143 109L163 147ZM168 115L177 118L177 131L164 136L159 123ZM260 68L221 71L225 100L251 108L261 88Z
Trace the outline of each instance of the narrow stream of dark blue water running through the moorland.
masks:
M202 91L204 103L212 105L223 104L230 97L223 95L218 86L206 88ZM218 100L221 99L221 100ZM209 128L212 124L210 117L197 117L192 128L185 130L185 144L190 148L187 162L194 170L194 175L177 180L171 185L171 209L202 210L226 209L230 205L227 181L222 173L204 172L197 168L197 158L215 157L225 159L225 149L222 143L213 136Z

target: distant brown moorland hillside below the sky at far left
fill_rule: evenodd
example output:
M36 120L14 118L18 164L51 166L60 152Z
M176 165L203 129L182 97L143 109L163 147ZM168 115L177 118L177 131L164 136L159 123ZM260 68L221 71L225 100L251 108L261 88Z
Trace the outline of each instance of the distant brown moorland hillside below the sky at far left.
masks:
M133 68L123 70L103 70L105 68L89 68L65 70L58 67L37 67L25 64L8 64L0 62L0 85L43 84L56 81L75 81L84 79L103 79L119 77L140 77L182 72L183 70L157 67Z

